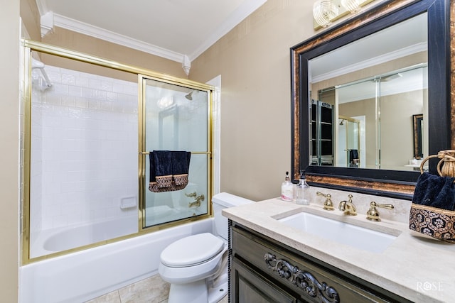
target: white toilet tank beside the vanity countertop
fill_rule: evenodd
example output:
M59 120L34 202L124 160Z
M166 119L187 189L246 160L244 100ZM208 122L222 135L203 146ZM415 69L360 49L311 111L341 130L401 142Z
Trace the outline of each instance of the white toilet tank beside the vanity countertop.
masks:
M215 194L215 196L212 197L213 216L215 217L215 234L228 240L228 218L221 214L222 209L250 203L254 203L254 201L235 196L234 194L228 194L227 192Z

